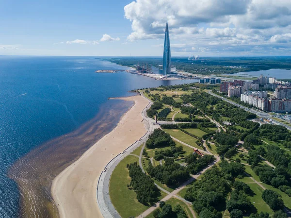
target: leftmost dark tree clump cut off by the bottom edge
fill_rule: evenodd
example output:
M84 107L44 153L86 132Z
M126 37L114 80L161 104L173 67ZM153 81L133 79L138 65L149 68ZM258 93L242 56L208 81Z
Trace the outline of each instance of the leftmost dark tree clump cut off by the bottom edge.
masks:
M171 204L161 201L160 208L153 212L154 218L188 218L179 204L172 208Z

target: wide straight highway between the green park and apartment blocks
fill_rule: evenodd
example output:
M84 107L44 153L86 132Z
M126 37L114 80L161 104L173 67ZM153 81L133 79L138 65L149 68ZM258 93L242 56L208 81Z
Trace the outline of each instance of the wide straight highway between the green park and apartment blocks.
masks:
M240 107L240 108L242 108L242 109L245 110L245 111L248 111L248 112L251 112L251 113L253 113L253 114L256 114L256 115L257 115L258 117L260 117L260 118L268 118L268 119L272 120L272 122L273 122L274 124L284 126L284 127L286 127L288 130L291 131L291 127L290 127L290 126L288 126L288 125L286 125L286 124L284 124L284 123L280 123L280 122L276 121L275 119L272 118L272 115L270 115L270 114L268 114L268 113L265 113L265 112L263 112L263 111L259 111L258 109L253 109L253 108L248 108L248 107L242 106L241 104L238 104L238 103L236 103L236 102L234 102L234 101L230 101L229 99L226 99L226 98L224 98L224 97L222 97L222 96L220 96L220 95L217 95L217 94L213 93L212 90L207 90L206 92L207 92L208 94L212 95L212 96L215 96L215 97L217 97L217 98L222 99L223 101L226 101L226 102L228 102L228 103L230 103L230 104L233 104L233 105L235 105L235 106L237 106L237 107Z

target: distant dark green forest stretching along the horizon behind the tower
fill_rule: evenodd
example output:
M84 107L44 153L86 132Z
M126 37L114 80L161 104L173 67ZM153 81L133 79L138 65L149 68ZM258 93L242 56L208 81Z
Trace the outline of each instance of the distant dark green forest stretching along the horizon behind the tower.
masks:
M161 68L162 57L118 57L107 58L118 65L153 65ZM200 60L188 60L187 57L172 57L172 66L177 70L203 75L226 74L268 69L291 69L289 57L203 57ZM232 66L232 67L230 67Z

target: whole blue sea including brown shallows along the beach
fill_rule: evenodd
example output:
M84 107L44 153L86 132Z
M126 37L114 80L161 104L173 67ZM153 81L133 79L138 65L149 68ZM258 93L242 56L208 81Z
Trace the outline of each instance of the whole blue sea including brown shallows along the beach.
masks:
M0 56L0 218L51 217L51 180L132 105L108 98L197 82L97 69L128 67L95 57Z

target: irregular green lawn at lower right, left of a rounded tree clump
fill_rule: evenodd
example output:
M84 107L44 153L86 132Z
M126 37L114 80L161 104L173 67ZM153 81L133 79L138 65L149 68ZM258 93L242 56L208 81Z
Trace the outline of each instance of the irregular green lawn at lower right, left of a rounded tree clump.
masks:
M253 191L253 195L249 196L252 204L257 208L258 213L268 212L273 215L274 212L269 207L269 205L262 199L263 189L258 184L248 184Z

